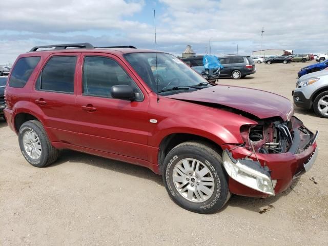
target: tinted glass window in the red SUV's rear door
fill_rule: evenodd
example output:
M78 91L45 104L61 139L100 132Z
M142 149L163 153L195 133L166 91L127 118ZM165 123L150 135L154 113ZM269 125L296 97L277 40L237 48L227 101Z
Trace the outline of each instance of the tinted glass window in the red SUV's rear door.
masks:
M40 74L35 89L64 93L74 92L76 56L54 56Z

